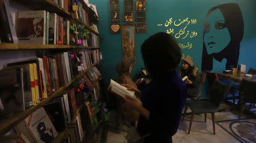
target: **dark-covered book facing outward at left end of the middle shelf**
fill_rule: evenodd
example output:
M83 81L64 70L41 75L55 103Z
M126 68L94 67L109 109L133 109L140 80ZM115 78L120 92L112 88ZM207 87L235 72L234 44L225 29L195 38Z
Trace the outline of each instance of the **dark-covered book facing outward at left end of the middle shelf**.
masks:
M13 113L25 110L23 68L0 71L1 112Z

